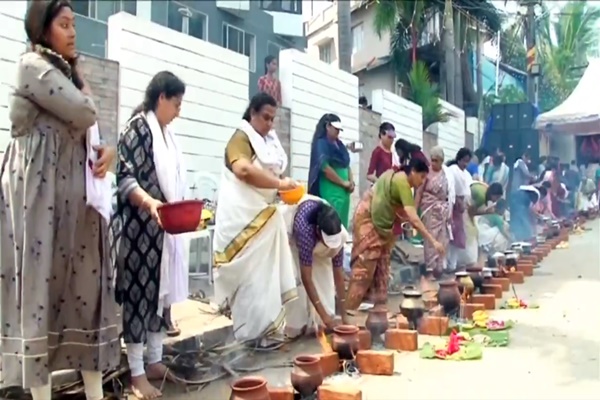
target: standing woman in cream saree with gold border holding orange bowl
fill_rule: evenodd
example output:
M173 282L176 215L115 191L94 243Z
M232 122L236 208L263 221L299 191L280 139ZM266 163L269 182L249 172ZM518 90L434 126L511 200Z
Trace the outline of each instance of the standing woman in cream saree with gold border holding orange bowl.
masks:
M281 333L284 305L296 299L294 261L286 223L274 201L277 189L297 184L280 179L287 156L271 130L277 102L254 96L225 150L214 234L215 298L230 308L235 338L267 340Z

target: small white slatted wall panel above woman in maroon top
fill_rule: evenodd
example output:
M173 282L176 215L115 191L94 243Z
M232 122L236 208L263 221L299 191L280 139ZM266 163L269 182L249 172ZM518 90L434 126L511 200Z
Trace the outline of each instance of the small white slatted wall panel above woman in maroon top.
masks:
M398 138L423 147L421 106L387 90L374 90L371 96L373 111L381 114L381 122L391 122Z

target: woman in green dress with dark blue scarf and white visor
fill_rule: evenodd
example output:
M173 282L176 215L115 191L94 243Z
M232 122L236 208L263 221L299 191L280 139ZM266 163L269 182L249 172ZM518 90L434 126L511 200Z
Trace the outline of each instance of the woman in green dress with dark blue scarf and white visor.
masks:
M331 204L347 229L350 194L356 185L350 169L350 154L339 139L342 130L340 117L335 114L325 114L319 120L310 152L308 193Z

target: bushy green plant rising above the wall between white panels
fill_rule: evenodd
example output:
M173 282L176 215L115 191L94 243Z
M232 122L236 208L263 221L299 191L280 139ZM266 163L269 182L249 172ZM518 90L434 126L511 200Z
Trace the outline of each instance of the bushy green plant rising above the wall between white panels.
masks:
M421 106L423 130L436 122L447 122L451 114L444 111L440 103L438 85L431 80L427 65L417 61L408 73L409 100Z

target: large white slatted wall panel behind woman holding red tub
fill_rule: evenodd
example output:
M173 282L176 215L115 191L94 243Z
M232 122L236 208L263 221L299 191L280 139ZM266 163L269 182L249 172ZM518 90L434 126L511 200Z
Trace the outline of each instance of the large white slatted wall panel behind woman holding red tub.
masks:
M152 76L168 70L186 83L171 129L188 181L197 172L218 178L225 144L248 104L248 57L126 13L108 20L108 58L120 64L119 126L141 103Z

